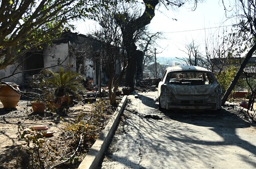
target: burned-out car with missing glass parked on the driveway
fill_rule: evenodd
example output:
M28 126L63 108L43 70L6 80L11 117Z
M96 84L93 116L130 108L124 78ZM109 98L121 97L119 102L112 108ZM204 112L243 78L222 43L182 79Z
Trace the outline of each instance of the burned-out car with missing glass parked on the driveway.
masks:
M199 66L169 67L158 85L159 110L218 110L221 95L214 74Z

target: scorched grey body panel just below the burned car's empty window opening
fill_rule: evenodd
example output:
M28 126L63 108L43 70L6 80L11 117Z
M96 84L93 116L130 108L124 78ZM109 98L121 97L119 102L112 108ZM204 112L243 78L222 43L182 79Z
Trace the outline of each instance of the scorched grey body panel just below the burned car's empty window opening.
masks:
M174 93L176 97L183 96L209 96L213 94L218 83L212 85L172 85L166 84L166 86ZM181 99L181 98L180 98Z

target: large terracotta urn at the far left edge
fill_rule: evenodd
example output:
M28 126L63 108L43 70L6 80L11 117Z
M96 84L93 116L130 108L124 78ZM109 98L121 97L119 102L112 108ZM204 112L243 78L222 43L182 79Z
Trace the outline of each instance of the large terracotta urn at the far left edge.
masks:
M9 83L16 90L20 90L15 83ZM12 90L11 87L1 84L0 85L0 100L3 103L4 108L16 108L20 101L20 94Z

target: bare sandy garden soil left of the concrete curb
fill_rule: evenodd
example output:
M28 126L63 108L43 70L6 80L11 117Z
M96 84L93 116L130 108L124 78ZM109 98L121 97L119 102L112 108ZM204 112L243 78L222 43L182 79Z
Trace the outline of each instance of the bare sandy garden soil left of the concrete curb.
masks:
M54 132L52 136L44 138L48 145L55 147L56 150L52 162L47 161L46 167L55 166L69 158L75 152L78 143L74 141L75 139L69 132L64 130L64 123L73 123L81 112L89 114L92 111L93 104L95 103L78 102L78 104L70 107L66 116L61 117L49 111L33 113L31 101L24 99L20 99L16 109L3 108L3 104L0 103L0 168L31 168L31 166L28 166L29 155L24 149L24 147L27 147L27 143L24 139L20 139L20 135L24 131L22 128L31 130L29 128L33 126L47 126L49 128L46 130L47 132ZM96 135L99 135L104 129L113 112L114 109L111 108L103 114L104 117L96 128ZM90 145L92 144L90 143ZM78 168L89 150L90 147L78 149L73 161L67 161L56 168Z

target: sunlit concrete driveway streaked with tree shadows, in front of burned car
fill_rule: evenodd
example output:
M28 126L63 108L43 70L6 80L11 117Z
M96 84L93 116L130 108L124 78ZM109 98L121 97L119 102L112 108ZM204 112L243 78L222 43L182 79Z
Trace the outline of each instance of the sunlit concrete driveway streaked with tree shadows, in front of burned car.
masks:
M255 169L256 127L226 110L159 112L156 92L128 96L102 169ZM158 115L162 120L145 118Z

